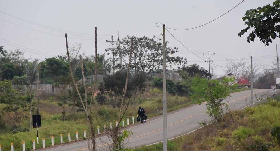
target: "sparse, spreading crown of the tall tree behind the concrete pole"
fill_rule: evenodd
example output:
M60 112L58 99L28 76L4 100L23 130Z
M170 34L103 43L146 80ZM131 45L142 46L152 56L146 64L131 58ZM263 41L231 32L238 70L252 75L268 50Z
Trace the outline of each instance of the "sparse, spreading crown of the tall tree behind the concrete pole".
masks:
M157 42L155 36L153 38L148 38L147 36L132 37L134 39L134 44L131 69L135 72L144 72L146 75L149 75L156 69L160 69L162 67L162 43ZM117 49L105 50L106 52L111 52L115 56L114 62L112 62L115 68L122 69L125 67L119 63L119 59L121 59L120 56L124 58L129 57L132 37L127 35L120 41L120 47L118 46ZM177 49L176 47L166 47L166 64L168 67L185 64L187 62L187 59L183 57L171 57L175 52L178 52ZM109 54L110 53L108 53L108 55Z

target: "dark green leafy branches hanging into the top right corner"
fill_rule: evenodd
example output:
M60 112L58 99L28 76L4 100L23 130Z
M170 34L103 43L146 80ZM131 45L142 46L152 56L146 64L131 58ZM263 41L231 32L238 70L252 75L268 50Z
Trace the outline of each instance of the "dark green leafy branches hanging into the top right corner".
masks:
M249 29L254 28L247 37L247 42L254 41L256 36L264 45L272 43L272 39L279 38L280 33L280 0L276 0L272 5L267 4L257 9L247 10L245 16L242 18L247 27L242 29L238 36L244 35Z

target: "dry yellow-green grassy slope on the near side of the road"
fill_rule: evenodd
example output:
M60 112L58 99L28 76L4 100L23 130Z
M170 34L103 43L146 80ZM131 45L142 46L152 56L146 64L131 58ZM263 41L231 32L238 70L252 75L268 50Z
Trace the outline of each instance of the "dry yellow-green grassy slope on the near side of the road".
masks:
M271 137L271 130L280 126L280 97L248 107L231 111L218 122L209 124L191 134L168 141L169 151L222 151L247 150L251 144L273 143L280 150L277 140ZM136 151L160 151L162 143L135 149Z

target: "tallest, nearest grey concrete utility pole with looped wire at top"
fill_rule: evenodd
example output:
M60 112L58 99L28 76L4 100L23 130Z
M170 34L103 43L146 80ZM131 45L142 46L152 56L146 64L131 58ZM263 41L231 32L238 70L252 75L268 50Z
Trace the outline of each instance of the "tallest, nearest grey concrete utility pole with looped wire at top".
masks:
M166 116L166 56L165 56L165 24L162 25L162 131L163 131L163 151L167 151L167 116Z

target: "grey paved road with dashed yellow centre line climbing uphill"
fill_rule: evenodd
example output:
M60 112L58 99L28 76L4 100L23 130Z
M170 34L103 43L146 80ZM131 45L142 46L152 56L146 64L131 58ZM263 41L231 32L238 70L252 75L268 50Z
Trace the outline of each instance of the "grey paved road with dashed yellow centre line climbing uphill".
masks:
M244 108L250 104L251 91L235 92L231 94L231 97L224 100L228 102L230 110L237 110ZM267 89L255 89L254 100L257 98L266 98L267 95L271 95L271 90ZM247 100L247 101L246 101ZM201 121L209 121L209 116L205 113L205 103L201 105L193 105L187 108L183 108L177 111L173 111L167 114L167 137L172 139L183 134L187 134L200 127L198 124ZM131 130L133 135L126 140L126 145L131 148L136 148L142 145L149 145L162 141L162 117L157 116L149 119L146 123L137 123L126 130ZM123 130L125 130L123 129ZM107 136L99 136L96 138L97 150L107 150L108 143ZM72 144L63 144L51 148L40 149L48 151L78 151L87 150L87 141L74 142Z

